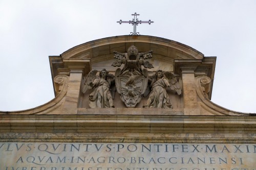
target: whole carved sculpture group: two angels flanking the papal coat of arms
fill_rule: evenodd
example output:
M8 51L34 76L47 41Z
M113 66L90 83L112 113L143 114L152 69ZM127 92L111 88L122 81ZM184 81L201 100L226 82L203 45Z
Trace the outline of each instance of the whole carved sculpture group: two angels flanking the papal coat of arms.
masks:
M114 51L116 61L112 66L120 67L123 64L122 69L116 69L115 76L104 68L99 76L96 76L98 70L90 71L82 88L83 93L94 89L89 95L89 107L114 107L113 99L117 91L126 107L136 107L143 96L148 97L144 108L173 108L166 88L175 90L180 95L180 84L170 71L158 70L155 75L148 76L147 69L154 67L145 60L152 58L152 53L153 51L139 53L137 47L132 45L127 53Z

